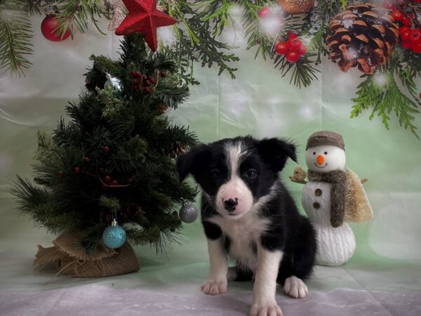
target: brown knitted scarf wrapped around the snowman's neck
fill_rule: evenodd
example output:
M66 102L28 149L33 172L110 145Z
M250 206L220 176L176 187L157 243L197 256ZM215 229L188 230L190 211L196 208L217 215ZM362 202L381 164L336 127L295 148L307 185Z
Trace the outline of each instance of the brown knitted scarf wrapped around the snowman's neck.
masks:
M310 181L332 183L330 189L330 224L339 227L345 217L345 190L347 187L347 173L345 171L331 171L320 173L309 170L307 178Z

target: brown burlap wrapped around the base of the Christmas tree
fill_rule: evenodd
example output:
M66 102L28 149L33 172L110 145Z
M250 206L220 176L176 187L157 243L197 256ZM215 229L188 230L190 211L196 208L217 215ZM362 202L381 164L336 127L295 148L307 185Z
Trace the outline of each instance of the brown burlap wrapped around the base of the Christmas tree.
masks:
M58 275L72 277L110 277L138 271L138 258L132 246L126 242L119 249L98 246L93 254L86 254L81 247L82 232L65 232L53 241L54 246L38 246L34 259L35 270L48 263L57 263Z

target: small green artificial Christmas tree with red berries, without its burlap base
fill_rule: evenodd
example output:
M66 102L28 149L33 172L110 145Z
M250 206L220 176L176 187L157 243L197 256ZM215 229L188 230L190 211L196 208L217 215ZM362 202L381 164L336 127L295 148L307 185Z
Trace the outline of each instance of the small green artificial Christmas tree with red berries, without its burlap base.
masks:
M165 114L189 96L188 86L142 34L124 38L119 60L91 60L86 91L66 107L71 121L38 134L34 183L18 177L13 186L18 209L49 232L79 232L86 256L114 248L102 242L114 219L129 243L163 249L181 226L175 208L196 195L179 183L174 161L196 136Z

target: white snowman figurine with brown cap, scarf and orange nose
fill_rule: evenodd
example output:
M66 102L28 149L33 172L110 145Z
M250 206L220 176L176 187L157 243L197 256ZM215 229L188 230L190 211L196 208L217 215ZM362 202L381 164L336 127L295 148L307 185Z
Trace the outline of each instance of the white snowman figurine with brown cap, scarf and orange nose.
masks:
M319 131L307 140L305 162L308 183L302 206L318 236L316 263L342 265L355 251L355 237L345 220L347 169L342 136Z

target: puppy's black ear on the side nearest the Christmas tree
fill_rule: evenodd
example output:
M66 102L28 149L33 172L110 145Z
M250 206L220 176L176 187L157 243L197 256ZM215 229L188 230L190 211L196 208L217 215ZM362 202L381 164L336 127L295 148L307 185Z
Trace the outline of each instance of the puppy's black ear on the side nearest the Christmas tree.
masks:
M203 169L203 164L210 159L210 148L208 145L199 145L193 147L189 152L182 154L177 159L177 170L180 182L184 180L189 173L196 176Z

